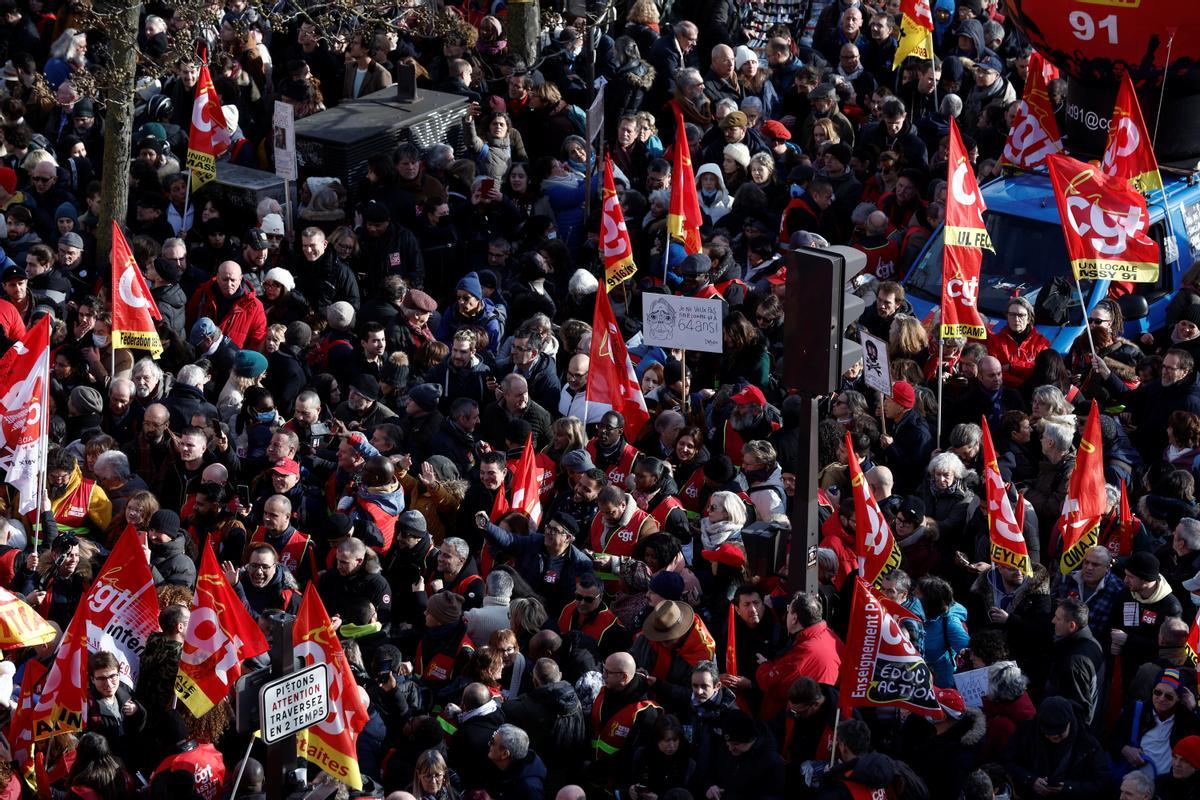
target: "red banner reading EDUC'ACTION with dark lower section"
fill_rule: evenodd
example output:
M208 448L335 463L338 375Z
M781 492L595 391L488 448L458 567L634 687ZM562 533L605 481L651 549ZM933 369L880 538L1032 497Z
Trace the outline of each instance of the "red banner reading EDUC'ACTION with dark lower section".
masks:
M942 718L934 672L900 630L898 616L912 614L877 597L865 581L854 578L838 686L842 716L856 708L895 706Z

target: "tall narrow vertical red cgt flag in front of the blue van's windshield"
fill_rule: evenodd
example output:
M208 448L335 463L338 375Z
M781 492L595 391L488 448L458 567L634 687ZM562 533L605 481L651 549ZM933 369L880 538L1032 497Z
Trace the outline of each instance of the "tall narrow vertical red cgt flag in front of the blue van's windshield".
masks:
M942 249L942 337L982 339L988 327L979 315L979 266L983 251L994 248L983 223L983 193L967 158L959 126L950 120L950 151L946 169L944 247Z

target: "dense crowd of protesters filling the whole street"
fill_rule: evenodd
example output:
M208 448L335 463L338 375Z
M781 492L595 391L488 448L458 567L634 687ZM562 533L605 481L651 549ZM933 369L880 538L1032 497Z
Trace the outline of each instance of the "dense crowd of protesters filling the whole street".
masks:
M370 700L356 796L1200 796L1200 277L1136 342L1117 303L1098 305L1096 355L1084 337L1051 349L1013 297L985 342L949 341L940 361L934 321L905 300L944 213L950 119L980 181L997 174L1031 55L1003 10L936 0L936 58L894 68L895 1L632 0L599 23L553 5L528 64L503 13L475 4L433 29L391 10L400 24L348 36L302 16L272 29L278 10L246 0L199 23L146 4L134 158L112 164L102 98L77 86L103 66L97 31L74 2L0 0L0 332L53 318L54 404L49 547L34 552L5 498L0 584L65 628L132 528L163 608L134 686L112 654L89 657L85 730L48 740L38 796L232 790L247 740L228 706L196 718L174 697L205 543L256 619L318 588ZM180 172L199 74L166 60L180 36L208 44L222 161L244 167L274 168L275 101L319 114L403 64L470 114L446 143L372 156L353 192L301 162L290 218L271 200L242 218ZM587 397L604 269L582 109L600 83L638 265L610 293L650 410L636 432ZM1063 94L1051 83L1060 113ZM683 138L696 254L667 240ZM128 172L158 359L112 350L96 233L113 169ZM785 315L804 313L784 249L826 243L868 257L878 283L857 326L888 342L895 384L881 398L854 366L814 431L781 379ZM641 308L664 293L721 299L724 353L640 344ZM1061 575L1092 399L1109 513ZM989 563L982 419L1032 576ZM902 551L880 591L920 620L905 631L937 721L835 714L858 565L847 433ZM820 486L797 487L811 437ZM527 440L536 524L492 515ZM778 545L792 498L816 492L820 590L793 595ZM55 651L10 654L18 687ZM956 691L971 669L986 670L982 705ZM238 796L270 783L253 753ZM13 766L5 796L30 794Z

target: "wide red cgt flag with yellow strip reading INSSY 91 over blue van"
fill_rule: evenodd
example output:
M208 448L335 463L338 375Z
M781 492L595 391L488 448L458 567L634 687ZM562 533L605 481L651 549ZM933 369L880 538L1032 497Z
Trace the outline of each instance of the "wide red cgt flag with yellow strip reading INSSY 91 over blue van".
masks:
M1067 255L1080 281L1158 282L1158 243L1146 235L1146 198L1123 178L1069 156L1049 156Z

